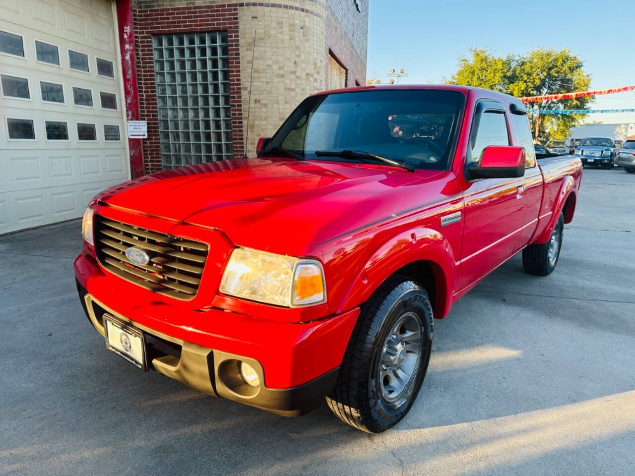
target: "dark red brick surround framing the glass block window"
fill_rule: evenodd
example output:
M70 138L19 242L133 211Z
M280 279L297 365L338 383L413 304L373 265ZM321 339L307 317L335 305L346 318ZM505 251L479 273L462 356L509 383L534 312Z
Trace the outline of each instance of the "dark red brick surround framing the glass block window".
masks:
M157 3L159 2L137 1L138 6ZM234 154L237 157L242 156L244 154L243 107L237 4L210 4L210 2L206 2L204 5L178 8L137 8L133 10L133 22L137 52L140 118L148 123L148 138L144 140L146 173L161 170L154 56L152 54L152 35L154 34L227 31Z

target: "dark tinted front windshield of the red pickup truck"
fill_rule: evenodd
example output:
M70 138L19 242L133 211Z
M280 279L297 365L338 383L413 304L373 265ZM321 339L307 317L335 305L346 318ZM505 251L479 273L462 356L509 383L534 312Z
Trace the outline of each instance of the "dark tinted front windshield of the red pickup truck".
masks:
M315 152L356 150L414 168L445 169L463 103L457 91L434 89L311 96L284 122L267 150L329 161L356 159Z

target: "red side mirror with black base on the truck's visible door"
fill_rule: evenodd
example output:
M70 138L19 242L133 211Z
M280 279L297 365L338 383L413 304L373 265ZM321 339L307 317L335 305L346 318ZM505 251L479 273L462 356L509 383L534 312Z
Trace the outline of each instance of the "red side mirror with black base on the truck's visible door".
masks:
M489 145L483 149L478 165L468 167L470 178L517 178L525 175L525 148Z

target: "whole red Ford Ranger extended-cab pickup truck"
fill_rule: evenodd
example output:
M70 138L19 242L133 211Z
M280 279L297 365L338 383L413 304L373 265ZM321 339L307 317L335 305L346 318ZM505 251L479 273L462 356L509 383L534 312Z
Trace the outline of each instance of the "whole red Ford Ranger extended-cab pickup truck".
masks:
M462 86L312 95L257 155L97 195L84 311L140 369L366 432L413 404L433 317L516 253L552 272L582 178L537 162L518 99Z

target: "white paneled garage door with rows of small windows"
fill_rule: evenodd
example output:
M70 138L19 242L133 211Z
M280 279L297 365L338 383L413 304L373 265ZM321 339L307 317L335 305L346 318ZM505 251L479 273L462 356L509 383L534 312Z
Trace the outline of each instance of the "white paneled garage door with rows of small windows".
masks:
M110 0L0 0L0 234L128 177Z

